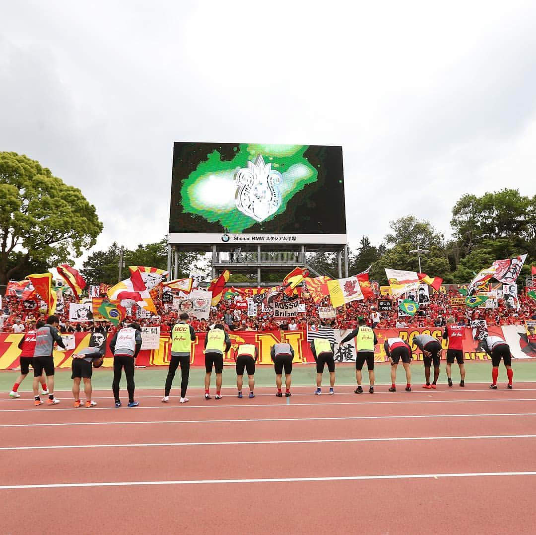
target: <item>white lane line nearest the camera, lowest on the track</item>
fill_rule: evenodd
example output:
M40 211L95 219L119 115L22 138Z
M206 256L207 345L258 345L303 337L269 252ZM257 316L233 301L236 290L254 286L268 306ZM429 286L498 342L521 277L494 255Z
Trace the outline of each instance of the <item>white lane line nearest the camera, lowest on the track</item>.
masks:
M519 475L536 475L536 472L464 472L450 474L389 474L389 475L344 475L317 478L265 478L265 479L193 479L178 481L110 481L95 483L51 483L41 485L2 485L0 490L35 489L35 488L72 488L72 487L138 487L144 485L215 485L241 483L291 483L310 481L363 481L382 479L440 479L440 478L481 478L509 477Z

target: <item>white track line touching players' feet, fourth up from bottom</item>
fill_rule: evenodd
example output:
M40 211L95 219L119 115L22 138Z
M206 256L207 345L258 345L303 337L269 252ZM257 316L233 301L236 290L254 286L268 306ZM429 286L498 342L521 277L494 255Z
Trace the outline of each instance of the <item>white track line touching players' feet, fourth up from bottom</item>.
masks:
M365 395L366 396L366 395ZM431 395L430 395L431 397ZM109 399L109 398L108 398ZM285 398L288 399L288 398ZM362 398L361 398L362 399ZM309 406L322 406L322 405L401 405L401 404L407 404L407 403L478 403L478 402L531 402L536 401L536 398L488 398L488 399L426 399L426 400L420 400L420 401L409 401L409 400L392 400L392 401L383 401L383 402L318 402L318 403L291 403L289 406L291 407L309 407ZM66 400L66 403L71 403L72 400ZM126 405L126 403L124 404ZM203 404L203 405L191 405L191 404L185 404L185 405L172 405L169 403L162 403L160 405L139 405L136 410L139 412L142 409L180 409L180 410L186 410L186 409L193 409L193 408L229 408L229 407L248 407L248 408L259 408L259 407L287 407L287 404L285 402L280 403L263 403L263 404L253 404L249 403L248 400L245 400L244 403L237 403L237 404L218 404L218 401L211 402L210 404ZM0 409L0 413L2 412L34 412L34 413L44 413L44 411L47 411L47 408L50 408L51 411L58 412L58 411L78 411L82 412L83 409L80 408L59 408L59 407L47 407L47 405L41 405L39 407L34 408L3 408ZM122 408L125 408L124 406ZM128 407L127 407L128 408ZM117 407L92 407L91 411L117 411ZM48 413L48 411L47 411Z

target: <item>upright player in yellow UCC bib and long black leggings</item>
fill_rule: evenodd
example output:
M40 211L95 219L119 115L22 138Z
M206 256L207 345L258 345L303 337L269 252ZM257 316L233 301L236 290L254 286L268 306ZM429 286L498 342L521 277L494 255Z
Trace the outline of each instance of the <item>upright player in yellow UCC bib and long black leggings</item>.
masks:
M179 316L180 322L173 325L169 336L171 338L171 358L169 360L168 374L166 377L166 386L164 388L164 397L162 403L169 401L169 392L173 384L173 378L177 371L178 365L181 365L181 399L179 403L187 403L186 397L188 381L190 378L190 353L192 342L196 341L196 332L191 325L187 325L188 314L183 312Z

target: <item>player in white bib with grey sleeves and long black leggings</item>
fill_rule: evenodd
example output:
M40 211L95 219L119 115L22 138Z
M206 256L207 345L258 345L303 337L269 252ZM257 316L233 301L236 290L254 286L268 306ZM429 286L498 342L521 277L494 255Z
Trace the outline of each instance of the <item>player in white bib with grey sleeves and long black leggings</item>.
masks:
M123 369L126 377L126 390L129 393L128 407L137 407L139 402L134 399L134 370L136 357L142 348L142 328L138 323L131 323L117 331L110 341L110 350L114 354L114 381L111 389L114 392L115 406L121 407L119 399L119 383Z

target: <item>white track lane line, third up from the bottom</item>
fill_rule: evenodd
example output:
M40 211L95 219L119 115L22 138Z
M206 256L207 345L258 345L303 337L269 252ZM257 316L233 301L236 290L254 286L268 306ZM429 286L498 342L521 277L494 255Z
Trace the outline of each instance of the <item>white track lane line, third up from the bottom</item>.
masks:
M324 416L310 418L239 418L223 420L140 420L116 422L61 422L61 423L4 423L1 427L61 427L61 426L110 426L153 425L155 423L236 423L236 422L306 422L324 420L399 420L412 418L477 418L477 417L536 416L536 412L507 412L483 414L404 414L389 416Z

